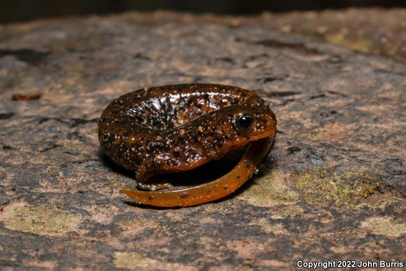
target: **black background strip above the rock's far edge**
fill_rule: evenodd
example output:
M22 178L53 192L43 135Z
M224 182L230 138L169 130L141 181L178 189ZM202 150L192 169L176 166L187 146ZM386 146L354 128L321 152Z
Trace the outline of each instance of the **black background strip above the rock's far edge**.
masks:
M115 13L129 10L168 9L195 13L255 14L262 11L322 10L348 7L405 7L406 0L0 0L0 22L26 21L41 17Z

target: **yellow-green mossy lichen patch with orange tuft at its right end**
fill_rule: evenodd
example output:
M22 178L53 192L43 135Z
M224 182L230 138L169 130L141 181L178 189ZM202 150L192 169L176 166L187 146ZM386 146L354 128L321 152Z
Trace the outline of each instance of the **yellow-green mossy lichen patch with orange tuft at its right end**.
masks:
M316 169L302 173L295 182L299 197L306 203L360 204L361 198L390 192L380 179L359 172L338 174Z

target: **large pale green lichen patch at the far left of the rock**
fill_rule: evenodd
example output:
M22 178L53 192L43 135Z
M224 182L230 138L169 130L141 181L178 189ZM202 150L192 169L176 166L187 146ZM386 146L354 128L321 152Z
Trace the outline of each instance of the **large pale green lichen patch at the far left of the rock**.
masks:
M63 235L76 231L80 218L55 205L26 206L16 204L6 207L0 220L12 230L40 235Z

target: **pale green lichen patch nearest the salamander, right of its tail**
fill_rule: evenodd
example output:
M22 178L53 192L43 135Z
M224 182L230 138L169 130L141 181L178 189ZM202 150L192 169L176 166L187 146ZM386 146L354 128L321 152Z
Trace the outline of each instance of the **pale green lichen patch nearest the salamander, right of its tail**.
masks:
M297 192L289 187L282 172L272 172L255 179L243 196L249 203L264 207L291 204L298 200Z

